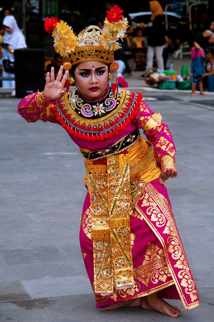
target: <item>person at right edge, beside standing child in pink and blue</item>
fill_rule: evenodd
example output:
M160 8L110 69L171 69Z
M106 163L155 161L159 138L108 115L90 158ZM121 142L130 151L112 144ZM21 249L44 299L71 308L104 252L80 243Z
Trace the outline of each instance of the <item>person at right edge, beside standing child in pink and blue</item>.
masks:
M206 77L207 87L209 92L214 90L214 50L212 48L206 48L206 61L205 61L205 73L202 78Z

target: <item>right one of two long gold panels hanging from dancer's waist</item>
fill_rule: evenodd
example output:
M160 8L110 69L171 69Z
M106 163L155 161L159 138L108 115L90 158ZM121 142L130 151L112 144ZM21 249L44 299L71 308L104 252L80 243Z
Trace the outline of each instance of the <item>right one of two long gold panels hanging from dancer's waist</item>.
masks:
M130 239L129 155L107 157L111 251L117 288L134 284Z

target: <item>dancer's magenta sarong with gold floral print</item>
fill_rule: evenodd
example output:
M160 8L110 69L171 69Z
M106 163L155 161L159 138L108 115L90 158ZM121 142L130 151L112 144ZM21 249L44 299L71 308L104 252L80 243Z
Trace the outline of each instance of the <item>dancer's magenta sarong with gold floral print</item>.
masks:
M92 288L94 284L91 210L86 195L80 228L80 246ZM130 216L134 287L116 289L113 297L96 296L97 308L159 291L161 298L180 299L185 309L200 305L167 190L153 180Z

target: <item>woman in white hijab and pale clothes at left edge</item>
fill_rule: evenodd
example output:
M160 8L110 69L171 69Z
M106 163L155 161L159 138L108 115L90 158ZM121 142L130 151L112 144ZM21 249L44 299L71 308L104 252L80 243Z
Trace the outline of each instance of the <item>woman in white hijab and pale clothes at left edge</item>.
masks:
M4 70L3 61L9 59L10 62L14 62L14 50L26 48L25 37L19 29L17 22L13 16L5 16L2 22L4 28L3 42L4 51L1 64L3 65L3 77L15 77L15 74L8 73ZM8 44L8 45L6 45ZM15 81L2 81L2 87L15 87Z

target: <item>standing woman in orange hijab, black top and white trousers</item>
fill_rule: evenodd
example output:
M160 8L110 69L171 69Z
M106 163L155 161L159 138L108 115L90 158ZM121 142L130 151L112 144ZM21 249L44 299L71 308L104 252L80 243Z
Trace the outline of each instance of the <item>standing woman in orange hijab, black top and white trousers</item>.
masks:
M165 29L163 25L163 9L158 1L149 1L151 14L151 27L141 24L142 27L148 27L148 50L146 71L153 67L153 58L156 56L157 67L164 70L163 50L165 45Z

